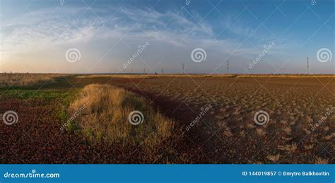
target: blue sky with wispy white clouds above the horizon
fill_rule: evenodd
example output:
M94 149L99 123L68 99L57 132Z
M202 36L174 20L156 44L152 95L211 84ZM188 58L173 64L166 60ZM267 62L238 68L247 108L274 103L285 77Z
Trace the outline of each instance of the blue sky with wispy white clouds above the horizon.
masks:
M334 73L333 0L0 0L0 71Z

